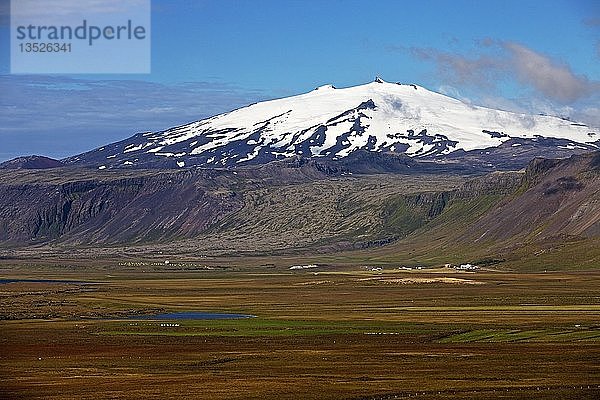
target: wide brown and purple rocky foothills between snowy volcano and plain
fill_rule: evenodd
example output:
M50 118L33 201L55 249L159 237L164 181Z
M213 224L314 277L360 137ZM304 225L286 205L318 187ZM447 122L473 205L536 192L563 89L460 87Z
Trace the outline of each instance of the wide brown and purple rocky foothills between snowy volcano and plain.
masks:
M360 151L233 170L2 170L0 248L34 244L36 256L39 246L177 256L368 248L365 257L441 264L600 257L600 152L476 177L426 165Z

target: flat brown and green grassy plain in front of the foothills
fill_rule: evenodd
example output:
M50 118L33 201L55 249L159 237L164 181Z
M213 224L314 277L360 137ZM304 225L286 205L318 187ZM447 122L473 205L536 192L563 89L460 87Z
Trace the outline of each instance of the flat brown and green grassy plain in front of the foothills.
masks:
M600 271L165 268L4 265L0 397L600 398Z

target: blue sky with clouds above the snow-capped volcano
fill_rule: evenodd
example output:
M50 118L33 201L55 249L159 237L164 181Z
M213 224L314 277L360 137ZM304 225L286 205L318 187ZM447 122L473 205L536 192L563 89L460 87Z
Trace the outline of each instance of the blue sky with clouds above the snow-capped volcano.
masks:
M0 7L0 160L66 157L375 75L600 125L597 0L154 0L140 75L10 75Z

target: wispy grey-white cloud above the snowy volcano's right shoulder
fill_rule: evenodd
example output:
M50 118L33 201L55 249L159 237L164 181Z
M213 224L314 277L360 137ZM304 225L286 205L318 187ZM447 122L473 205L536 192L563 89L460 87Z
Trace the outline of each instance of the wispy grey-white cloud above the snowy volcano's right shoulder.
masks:
M519 43L486 38L479 45L481 54L469 56L433 48L396 46L388 50L408 52L433 63L441 82L438 90L463 102L555 115L600 127L600 82L575 73L566 62ZM598 52L600 56L600 42ZM527 119L522 122L524 126L531 123Z

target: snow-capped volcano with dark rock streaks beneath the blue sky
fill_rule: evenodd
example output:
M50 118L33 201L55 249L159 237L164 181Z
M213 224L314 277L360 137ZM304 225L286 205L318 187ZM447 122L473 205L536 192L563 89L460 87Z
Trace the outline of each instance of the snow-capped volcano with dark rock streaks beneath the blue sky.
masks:
M66 159L98 168L234 167L294 155L338 159L363 149L430 158L516 140L593 149L600 134L557 117L473 106L412 84L326 85ZM456 154L456 153L455 153ZM165 164L166 163L166 164Z

